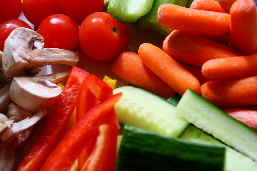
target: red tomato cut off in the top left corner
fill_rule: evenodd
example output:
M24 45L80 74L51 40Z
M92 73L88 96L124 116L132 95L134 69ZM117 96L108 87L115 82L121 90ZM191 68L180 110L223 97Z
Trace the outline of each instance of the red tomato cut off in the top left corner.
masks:
M9 18L19 18L22 13L21 0L0 1L0 22Z

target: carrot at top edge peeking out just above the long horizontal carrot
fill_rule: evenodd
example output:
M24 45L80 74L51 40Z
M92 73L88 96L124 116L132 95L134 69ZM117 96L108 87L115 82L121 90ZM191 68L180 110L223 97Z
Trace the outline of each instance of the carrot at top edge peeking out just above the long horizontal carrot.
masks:
M215 0L194 0L190 8L227 13Z

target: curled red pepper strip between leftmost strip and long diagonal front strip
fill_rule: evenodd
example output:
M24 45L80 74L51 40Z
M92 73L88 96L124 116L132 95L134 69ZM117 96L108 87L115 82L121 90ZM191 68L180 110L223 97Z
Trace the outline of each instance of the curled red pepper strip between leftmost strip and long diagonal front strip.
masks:
M96 75L90 74L83 82L78 95L76 120L79 121L90 108L111 96L113 89Z

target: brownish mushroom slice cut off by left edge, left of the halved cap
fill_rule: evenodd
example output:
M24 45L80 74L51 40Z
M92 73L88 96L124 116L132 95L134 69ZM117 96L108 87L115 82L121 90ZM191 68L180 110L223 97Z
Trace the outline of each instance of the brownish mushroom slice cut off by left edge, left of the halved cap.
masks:
M9 96L9 88L11 83L0 89L0 113L3 113L7 106L12 102Z

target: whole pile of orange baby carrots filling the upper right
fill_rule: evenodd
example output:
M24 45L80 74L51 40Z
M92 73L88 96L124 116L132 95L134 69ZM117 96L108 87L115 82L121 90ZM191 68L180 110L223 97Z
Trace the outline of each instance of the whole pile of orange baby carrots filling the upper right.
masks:
M132 85L147 85L152 92L162 89L155 86L154 90L156 82L164 82L180 95L190 88L256 130L255 2L194 0L190 8L162 4L157 16L162 25L173 31L160 47L143 43L138 54L121 54L112 65L114 73L120 72L119 77ZM155 79L151 82L145 72ZM165 92L161 94L167 99Z

